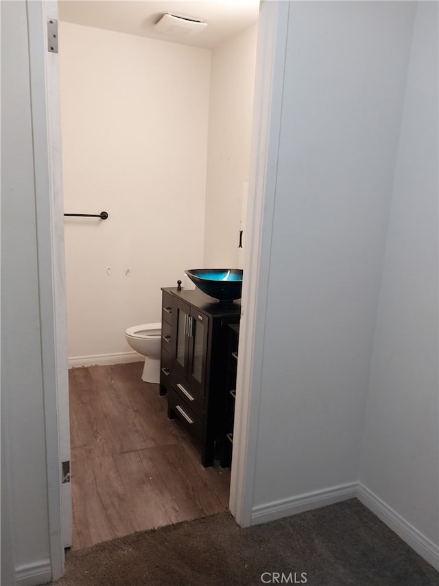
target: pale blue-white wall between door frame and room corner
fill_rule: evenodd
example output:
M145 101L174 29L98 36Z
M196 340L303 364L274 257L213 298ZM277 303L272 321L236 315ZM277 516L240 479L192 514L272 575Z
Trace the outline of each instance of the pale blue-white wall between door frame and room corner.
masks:
M289 5L253 521L356 486L413 19Z

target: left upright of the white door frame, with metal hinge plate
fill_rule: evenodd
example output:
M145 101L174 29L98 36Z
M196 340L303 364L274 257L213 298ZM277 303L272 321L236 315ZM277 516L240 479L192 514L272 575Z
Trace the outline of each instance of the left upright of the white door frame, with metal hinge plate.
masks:
M29 72L34 141L36 245L40 290L47 513L52 579L62 576L72 542L67 300L64 263L60 81L58 54L48 52L47 20L58 20L54 0L27 0ZM69 479L66 479L69 480Z

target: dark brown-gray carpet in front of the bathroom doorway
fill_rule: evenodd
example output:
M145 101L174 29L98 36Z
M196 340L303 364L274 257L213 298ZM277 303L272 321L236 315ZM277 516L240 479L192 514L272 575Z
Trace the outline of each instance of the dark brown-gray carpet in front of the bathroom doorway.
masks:
M245 529L220 513L101 543L68 554L66 573L56 585L264 583L438 586L439 574L351 499Z

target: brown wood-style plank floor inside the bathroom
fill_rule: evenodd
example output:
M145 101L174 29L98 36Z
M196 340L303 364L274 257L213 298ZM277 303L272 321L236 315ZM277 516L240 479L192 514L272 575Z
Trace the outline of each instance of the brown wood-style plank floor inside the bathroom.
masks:
M73 550L228 508L230 471L202 467L142 368L69 371Z

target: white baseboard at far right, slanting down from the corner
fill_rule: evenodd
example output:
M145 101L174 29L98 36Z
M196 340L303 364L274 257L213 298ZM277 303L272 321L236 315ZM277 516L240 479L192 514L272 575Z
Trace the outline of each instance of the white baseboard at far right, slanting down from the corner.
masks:
M439 548L364 484L358 483L357 499L396 533L410 548L439 570Z

